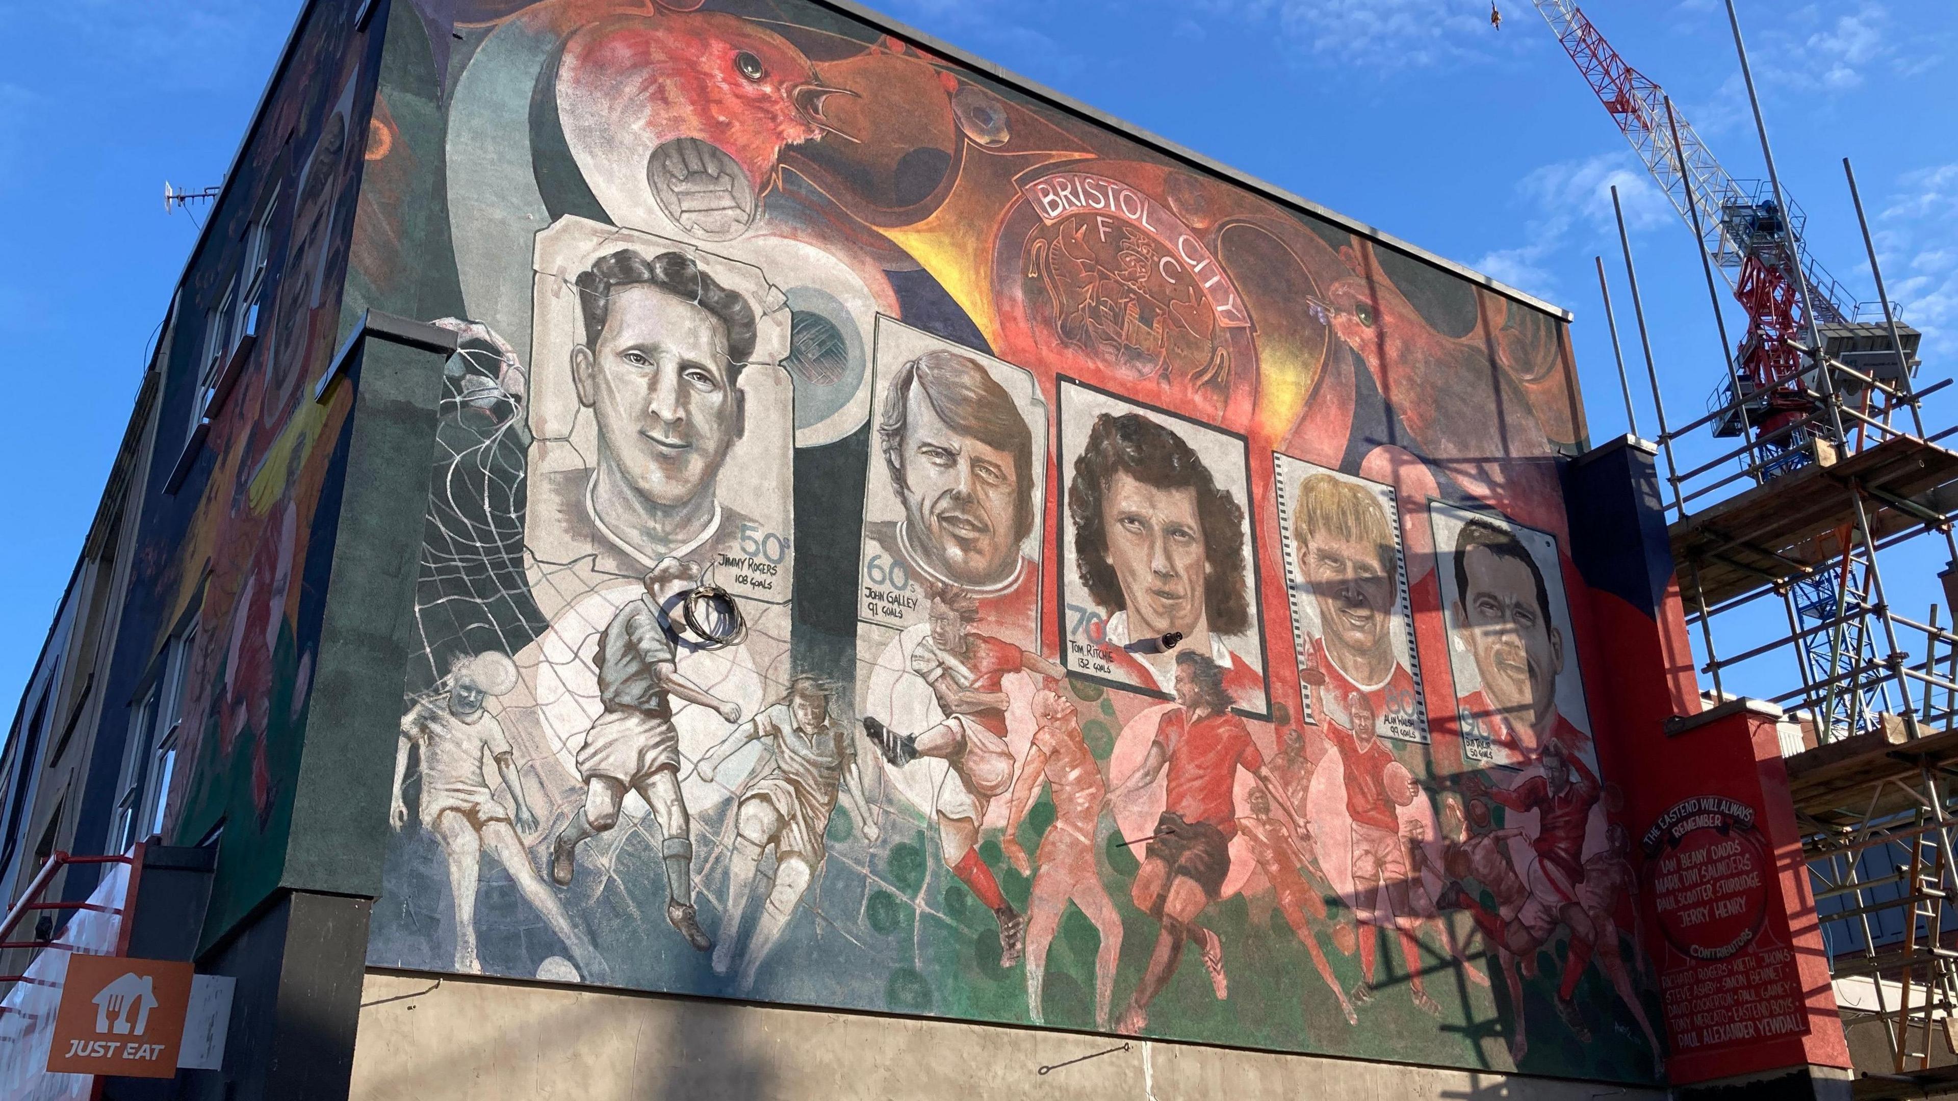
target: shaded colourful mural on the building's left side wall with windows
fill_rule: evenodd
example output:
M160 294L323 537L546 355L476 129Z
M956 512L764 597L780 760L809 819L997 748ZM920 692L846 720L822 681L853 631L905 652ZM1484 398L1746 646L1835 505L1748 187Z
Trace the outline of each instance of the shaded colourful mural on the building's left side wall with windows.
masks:
M358 198L372 59L354 41L347 12L309 16L170 325L172 376L215 394L202 417L184 392L159 406L157 478L208 425L174 507L151 509L135 588L155 603L131 609L145 658L186 646L180 711L149 731L163 752L147 766L168 770L164 837L223 833L211 929L284 868L350 409L347 388L315 402L313 382L341 325Z

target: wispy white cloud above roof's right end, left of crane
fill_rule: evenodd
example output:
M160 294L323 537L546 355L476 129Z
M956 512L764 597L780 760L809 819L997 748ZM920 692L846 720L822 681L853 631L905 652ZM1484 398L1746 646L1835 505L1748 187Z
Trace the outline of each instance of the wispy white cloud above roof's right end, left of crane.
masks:
M1557 298L1553 261L1566 249L1615 249L1617 219L1611 212L1617 188L1625 212L1625 231L1641 233L1668 225L1672 204L1645 174L1631 153L1600 153L1582 161L1559 161L1531 170L1515 190L1535 212L1523 221L1523 243L1494 249L1474 261L1474 268L1517 290Z

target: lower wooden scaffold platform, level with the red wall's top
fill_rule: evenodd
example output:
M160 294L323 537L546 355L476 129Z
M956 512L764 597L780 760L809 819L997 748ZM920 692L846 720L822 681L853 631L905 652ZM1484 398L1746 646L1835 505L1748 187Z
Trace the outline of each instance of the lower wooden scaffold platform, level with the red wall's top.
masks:
M1784 758L1795 817L1827 829L1852 829L1921 805L1907 786L1925 766L1936 772L1952 762L1958 762L1958 729L1899 739L1878 727Z

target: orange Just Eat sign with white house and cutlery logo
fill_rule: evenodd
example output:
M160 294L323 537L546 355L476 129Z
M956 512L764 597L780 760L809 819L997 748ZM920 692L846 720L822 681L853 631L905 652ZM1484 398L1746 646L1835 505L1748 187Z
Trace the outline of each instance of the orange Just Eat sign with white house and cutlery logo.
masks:
M47 1070L174 1077L190 974L174 960L70 956Z

